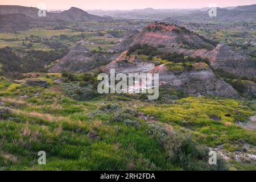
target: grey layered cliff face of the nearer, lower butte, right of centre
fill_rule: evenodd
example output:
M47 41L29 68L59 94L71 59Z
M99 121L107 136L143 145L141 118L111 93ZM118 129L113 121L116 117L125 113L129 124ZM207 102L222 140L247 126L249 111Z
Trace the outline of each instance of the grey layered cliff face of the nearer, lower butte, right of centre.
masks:
M210 68L185 71L180 75L168 71L164 65L156 67L151 73L159 73L159 81L167 82L176 89L191 95L213 94L222 97L237 97L237 91L221 78L217 78Z

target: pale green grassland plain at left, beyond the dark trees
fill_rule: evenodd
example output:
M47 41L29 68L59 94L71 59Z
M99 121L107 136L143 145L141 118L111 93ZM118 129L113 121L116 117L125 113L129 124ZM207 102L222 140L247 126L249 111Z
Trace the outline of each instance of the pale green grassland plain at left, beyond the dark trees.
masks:
M122 30L120 31L122 33ZM83 41L82 43L90 51L107 51L119 40L119 38L104 37L107 33L108 30L83 32L72 29L53 30L52 28L33 28L21 32L1 33L0 48L11 47L26 51L31 49L51 51L60 44L72 47L75 43Z

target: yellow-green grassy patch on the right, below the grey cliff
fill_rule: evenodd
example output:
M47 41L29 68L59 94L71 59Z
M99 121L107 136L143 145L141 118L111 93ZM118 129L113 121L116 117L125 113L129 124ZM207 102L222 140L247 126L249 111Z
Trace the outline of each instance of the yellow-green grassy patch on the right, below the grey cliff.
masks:
M255 107L253 110L242 101L188 97L174 105L147 105L140 109L143 113L156 117L160 122L191 129L200 143L210 147L239 143L241 140L254 146L256 144L254 131L243 129L234 123L245 122L248 117L256 114ZM226 114L231 114L232 117L225 117ZM221 120L210 119L212 115L221 117Z

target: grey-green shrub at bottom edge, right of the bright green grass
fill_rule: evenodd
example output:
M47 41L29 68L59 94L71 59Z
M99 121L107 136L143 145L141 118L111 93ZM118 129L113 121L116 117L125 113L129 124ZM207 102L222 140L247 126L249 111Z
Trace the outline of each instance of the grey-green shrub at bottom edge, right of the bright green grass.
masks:
M149 124L150 134L158 139L165 148L169 160L175 166L185 170L227 170L224 159L217 158L217 165L208 163L209 150L201 147L188 135L167 130L160 124Z

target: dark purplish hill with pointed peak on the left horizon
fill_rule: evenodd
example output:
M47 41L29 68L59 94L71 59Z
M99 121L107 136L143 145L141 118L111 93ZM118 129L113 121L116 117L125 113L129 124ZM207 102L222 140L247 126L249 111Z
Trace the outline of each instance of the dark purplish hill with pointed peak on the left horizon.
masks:
M46 17L39 17L38 11L36 7L0 5L0 32L23 31L42 26L63 26L65 22L111 20L111 18L88 14L76 7L60 13L47 12Z

